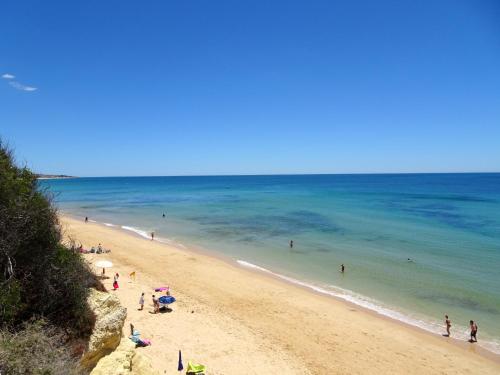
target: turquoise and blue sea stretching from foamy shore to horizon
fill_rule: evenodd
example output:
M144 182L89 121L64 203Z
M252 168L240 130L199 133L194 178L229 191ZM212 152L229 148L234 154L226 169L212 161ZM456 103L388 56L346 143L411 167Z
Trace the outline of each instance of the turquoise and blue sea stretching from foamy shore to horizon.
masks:
M453 335L465 339L474 319L480 344L500 353L500 174L79 178L41 185L63 212L217 251L436 333L448 314Z

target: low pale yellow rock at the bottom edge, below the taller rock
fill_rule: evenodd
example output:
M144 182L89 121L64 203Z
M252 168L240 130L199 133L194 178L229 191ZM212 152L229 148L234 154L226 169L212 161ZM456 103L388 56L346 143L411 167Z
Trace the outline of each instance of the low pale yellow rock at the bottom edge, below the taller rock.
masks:
M102 358L90 375L157 375L149 360L135 350L128 339L121 341L116 350Z

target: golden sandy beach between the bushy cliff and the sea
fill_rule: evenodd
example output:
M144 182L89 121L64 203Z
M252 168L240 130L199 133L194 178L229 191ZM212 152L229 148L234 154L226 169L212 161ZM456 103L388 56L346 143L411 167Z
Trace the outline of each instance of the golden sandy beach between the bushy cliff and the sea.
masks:
M139 348L165 374L178 351L208 374L499 374L498 358L355 305L315 294L203 253L149 241L118 228L61 217L65 238L102 243L111 260L104 281L152 345ZM135 281L129 277L136 272ZM96 269L96 272L100 270ZM112 275L120 288L112 291ZM168 285L172 311L151 314L156 286ZM141 292L144 311L138 311ZM480 339L480 336L479 336Z

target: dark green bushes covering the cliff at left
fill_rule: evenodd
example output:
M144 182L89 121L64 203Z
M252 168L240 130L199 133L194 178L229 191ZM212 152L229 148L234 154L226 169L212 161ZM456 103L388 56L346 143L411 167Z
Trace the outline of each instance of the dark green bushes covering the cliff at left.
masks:
M47 339L57 332L67 348L92 332L95 317L86 300L90 287L102 286L81 256L60 240L50 197L38 186L36 175L17 166L0 141L0 372L7 368L5 358L17 358L16 346L8 343L19 341L19 332L36 332L39 337L47 333ZM43 323L26 325L34 319ZM33 346L33 353L42 353L39 346L46 343L24 342ZM30 357L24 360L30 362Z

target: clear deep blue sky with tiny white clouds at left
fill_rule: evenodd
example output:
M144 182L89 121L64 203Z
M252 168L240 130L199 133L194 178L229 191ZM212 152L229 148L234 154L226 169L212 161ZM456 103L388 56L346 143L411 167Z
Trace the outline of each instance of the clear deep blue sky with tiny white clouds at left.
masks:
M6 0L0 75L42 173L500 171L496 0Z

